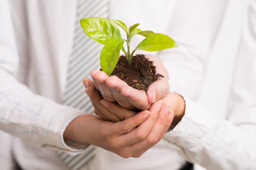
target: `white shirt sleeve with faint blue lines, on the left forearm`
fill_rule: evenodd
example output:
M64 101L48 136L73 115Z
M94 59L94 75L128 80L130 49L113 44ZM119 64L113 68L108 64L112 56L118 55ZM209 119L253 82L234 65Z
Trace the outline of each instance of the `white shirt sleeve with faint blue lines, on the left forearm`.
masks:
M0 89L1 130L38 147L74 149L65 144L63 132L69 122L84 114L84 111L33 94L3 69L0 73Z

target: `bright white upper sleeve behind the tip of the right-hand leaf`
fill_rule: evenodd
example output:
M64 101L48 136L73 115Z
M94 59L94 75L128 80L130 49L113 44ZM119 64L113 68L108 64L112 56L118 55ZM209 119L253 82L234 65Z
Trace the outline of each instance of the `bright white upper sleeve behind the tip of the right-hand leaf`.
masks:
M166 33L179 47L158 53L168 70L172 92L185 94L191 99L197 98L226 4L227 0L175 2Z

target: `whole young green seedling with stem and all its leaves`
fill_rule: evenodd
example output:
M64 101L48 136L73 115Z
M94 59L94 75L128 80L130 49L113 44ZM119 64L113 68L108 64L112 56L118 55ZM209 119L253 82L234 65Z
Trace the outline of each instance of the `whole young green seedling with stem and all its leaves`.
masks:
M133 53L136 50L159 51L167 48L177 47L176 42L167 35L154 33L153 31L141 31L137 26L132 25L129 30L127 26L120 20L107 18L83 18L80 24L84 32L94 41L105 45L100 53L100 67L108 75L112 73L119 60L120 50L125 54L128 64L132 62ZM118 27L124 29L127 39L122 39ZM131 39L135 34L146 37L132 51L130 50ZM124 49L124 41L127 44L127 52Z

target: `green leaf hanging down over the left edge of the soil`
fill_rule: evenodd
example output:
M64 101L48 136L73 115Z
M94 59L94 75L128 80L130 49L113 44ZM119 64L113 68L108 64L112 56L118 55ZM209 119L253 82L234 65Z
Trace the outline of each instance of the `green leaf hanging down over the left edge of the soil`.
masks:
M102 71L105 71L108 76L112 73L116 67L116 63L119 60L120 50L123 47L124 39L115 39L105 45L100 53L100 67Z

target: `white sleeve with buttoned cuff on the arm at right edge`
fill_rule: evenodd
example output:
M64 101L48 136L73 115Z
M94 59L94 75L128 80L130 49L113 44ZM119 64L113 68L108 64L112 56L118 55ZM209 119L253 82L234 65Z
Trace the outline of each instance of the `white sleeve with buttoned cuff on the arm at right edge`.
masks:
M245 23L226 117L204 110L185 97L184 117L164 136L183 158L209 170L256 167L255 2Z

